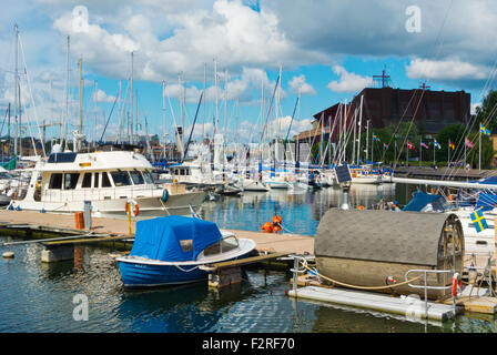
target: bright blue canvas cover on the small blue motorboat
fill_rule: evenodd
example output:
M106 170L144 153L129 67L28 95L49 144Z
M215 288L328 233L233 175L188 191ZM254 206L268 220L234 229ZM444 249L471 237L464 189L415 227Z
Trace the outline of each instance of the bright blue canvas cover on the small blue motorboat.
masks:
M215 223L199 219L170 215L138 221L130 255L165 262L194 261L221 239Z

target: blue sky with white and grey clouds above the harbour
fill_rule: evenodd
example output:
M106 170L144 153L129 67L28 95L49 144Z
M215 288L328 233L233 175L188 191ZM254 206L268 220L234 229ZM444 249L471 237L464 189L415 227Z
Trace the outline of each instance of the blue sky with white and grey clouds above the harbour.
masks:
M119 118L123 122L129 110L131 52L133 120L140 132L162 140L164 133L171 140L174 125L182 124L183 95L190 133L204 75L205 105L193 138L203 130L212 135L217 97L220 129L240 142L258 141L265 122L283 138L288 128L291 136L308 130L313 114L375 87L373 75L383 70L393 88L426 83L432 90L469 92L473 110L495 87L491 0L18 0L2 4L0 13L3 115L14 101L16 23L28 135L55 123L47 133L58 138L62 120L70 131L78 129L81 59L83 133L99 140L106 124L104 138L115 136ZM280 68L281 90L275 90ZM124 105L115 100L120 81Z

